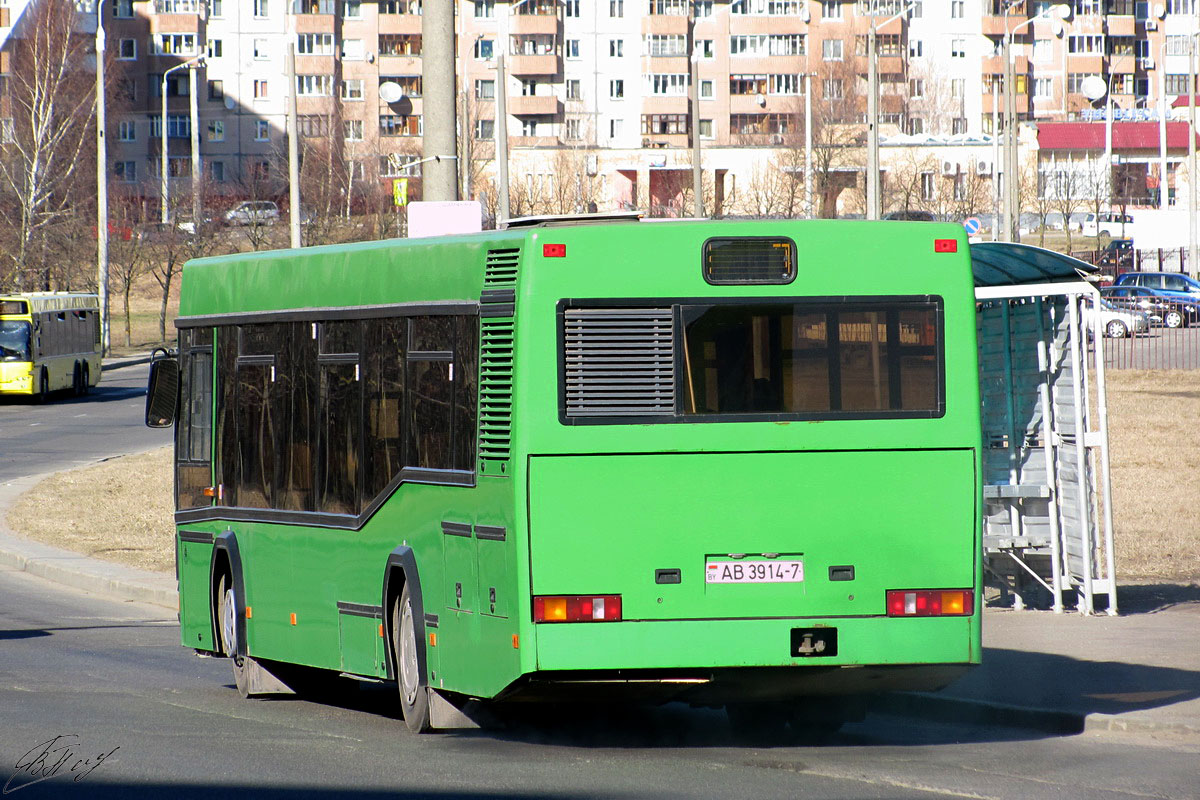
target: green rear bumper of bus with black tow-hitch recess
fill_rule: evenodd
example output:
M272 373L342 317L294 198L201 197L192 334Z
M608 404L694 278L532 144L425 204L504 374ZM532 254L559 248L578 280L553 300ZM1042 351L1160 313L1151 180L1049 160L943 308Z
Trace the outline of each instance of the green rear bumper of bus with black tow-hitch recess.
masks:
M535 693L562 684L691 702L936 691L980 655L978 615L580 622L535 632ZM827 644L800 655L808 632Z

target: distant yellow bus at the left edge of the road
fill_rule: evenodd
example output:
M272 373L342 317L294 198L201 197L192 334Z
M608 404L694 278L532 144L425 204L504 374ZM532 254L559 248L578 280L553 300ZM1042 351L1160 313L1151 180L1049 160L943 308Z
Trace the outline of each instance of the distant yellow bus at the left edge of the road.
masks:
M98 295L0 294L0 395L86 395L100 359Z

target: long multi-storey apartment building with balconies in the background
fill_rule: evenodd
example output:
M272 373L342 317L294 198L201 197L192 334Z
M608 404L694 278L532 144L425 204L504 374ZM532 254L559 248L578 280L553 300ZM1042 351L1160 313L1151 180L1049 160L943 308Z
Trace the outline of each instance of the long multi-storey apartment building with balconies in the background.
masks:
M30 1L0 0L0 40ZM503 91L515 182L545 193L569 179L581 204L667 212L683 209L690 185L694 116L709 203L791 157L806 107L814 128L852 131L835 168L860 175L853 131L865 120L872 24L884 142L985 140L998 122L1007 35L1020 120L1100 124L1109 100L1084 95L1090 77L1110 89L1117 125L1157 119L1162 98L1187 94L1198 30L1198 0L1070 0L1066 19L1049 0L452 1L460 146L474 163L462 170L464 192L486 193L494 180ZM289 46L301 136L336 150L359 191L419 176L421 0L106 0L103 14L113 175L131 192L156 194L163 125L169 176L190 175L193 72L210 188L236 196L277 181ZM194 70L180 66L193 59ZM380 97L383 84L400 98ZM884 148L884 168L887 158Z

